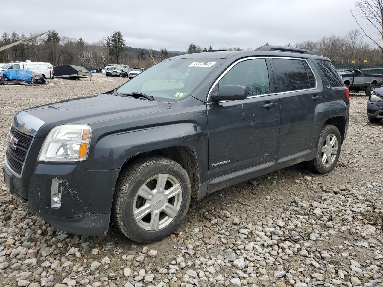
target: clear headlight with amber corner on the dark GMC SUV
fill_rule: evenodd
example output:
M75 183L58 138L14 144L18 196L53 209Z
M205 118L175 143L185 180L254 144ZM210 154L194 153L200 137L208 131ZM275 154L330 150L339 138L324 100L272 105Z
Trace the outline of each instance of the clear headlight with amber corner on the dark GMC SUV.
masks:
M41 148L39 161L86 160L92 127L83 124L69 124L54 127Z

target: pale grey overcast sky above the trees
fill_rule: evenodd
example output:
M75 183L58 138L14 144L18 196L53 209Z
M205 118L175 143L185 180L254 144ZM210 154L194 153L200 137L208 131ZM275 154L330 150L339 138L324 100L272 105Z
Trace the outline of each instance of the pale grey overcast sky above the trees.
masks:
M350 15L354 0L66 0L7 1L0 33L82 37L91 43L120 31L127 46L186 51L201 47L252 47L317 41L358 29ZM10 19L10 20L7 20ZM30 20L30 21L29 21ZM373 31L367 26L367 31ZM365 41L366 37L364 37Z

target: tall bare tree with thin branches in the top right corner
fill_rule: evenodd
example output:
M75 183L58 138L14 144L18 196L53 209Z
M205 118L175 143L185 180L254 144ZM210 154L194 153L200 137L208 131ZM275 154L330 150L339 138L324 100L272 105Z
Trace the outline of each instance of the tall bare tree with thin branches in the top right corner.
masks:
M374 42L376 47L381 51L383 57L383 5L382 0L356 0L354 10L350 8L350 13L354 17L359 28L362 29L363 33ZM376 33L380 36L379 40L375 40L368 36L366 31L360 26L357 17L361 17L368 21L373 26Z

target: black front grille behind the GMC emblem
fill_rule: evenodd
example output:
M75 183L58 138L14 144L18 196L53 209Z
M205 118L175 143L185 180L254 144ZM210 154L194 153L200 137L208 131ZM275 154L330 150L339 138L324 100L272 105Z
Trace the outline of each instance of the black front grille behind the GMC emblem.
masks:
M20 174L33 137L16 130L14 127L11 127L10 135L18 139L18 142L15 143L16 149L7 145L7 162L13 171Z

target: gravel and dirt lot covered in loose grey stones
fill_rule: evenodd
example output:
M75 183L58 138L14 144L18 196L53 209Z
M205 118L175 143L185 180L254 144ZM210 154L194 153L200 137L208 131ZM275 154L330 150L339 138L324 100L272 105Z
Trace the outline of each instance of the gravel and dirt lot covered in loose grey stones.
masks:
M126 78L0 86L0 163L20 109L108 91ZM349 134L331 174L303 164L192 202L168 238L147 245L56 230L0 181L0 286L382 286L383 124L351 96Z

